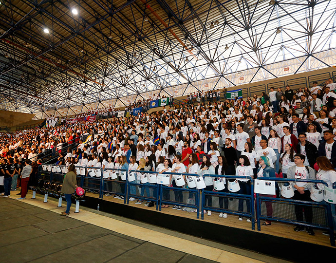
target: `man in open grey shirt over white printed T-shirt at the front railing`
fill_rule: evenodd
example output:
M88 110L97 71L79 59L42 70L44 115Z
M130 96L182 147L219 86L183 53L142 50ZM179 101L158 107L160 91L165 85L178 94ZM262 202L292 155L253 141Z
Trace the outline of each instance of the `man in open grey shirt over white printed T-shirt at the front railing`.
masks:
M292 166L287 171L287 178L293 179L294 182L292 182L292 187L294 189L294 200L300 200L300 201L309 201L313 202L313 200L310 198L310 191L311 188L310 183L306 182L296 182L297 179L304 179L304 180L316 180L315 170L312 169L309 166L304 165L304 160L306 159L306 156L303 154L295 154L294 156L294 163L295 166ZM302 209L304 209L304 217L305 221L303 220L303 212ZM299 222L307 222L312 223L313 222L313 210L310 206L302 206L302 205L295 205L295 215L296 219ZM314 230L312 227L304 227L301 225L297 225L294 228L294 231L300 232L306 230L309 235L314 236Z

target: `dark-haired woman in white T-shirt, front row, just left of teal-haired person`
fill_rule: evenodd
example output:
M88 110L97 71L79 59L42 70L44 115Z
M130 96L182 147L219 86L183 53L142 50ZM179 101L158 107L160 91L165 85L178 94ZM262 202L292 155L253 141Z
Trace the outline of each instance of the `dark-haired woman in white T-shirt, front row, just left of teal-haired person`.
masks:
M254 173L253 169L251 167L250 161L246 155L241 155L239 157L239 163L240 165L237 166L236 169L236 176L250 176L253 178ZM248 178L239 178L238 179L240 190L238 191L239 194L251 194L251 180ZM238 210L243 211L243 201L244 199L239 199L238 203ZM247 207L247 213L251 211L251 207L249 206L247 200L246 201L246 207ZM239 221L243 221L243 217L239 217ZM247 222L251 222L251 218L247 218Z

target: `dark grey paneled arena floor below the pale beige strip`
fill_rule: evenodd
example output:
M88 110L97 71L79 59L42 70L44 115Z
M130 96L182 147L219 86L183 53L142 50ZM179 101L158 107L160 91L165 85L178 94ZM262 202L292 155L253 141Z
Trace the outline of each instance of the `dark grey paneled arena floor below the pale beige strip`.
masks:
M10 198L0 199L0 262L210 263Z

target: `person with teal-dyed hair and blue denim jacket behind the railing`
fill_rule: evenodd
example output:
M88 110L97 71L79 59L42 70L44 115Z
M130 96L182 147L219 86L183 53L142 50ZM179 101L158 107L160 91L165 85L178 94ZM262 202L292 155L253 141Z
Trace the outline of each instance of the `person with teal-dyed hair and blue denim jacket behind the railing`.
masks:
M259 177L276 177L275 170L274 168L270 167L270 162L267 156L260 156L257 177L258 178ZM272 195L272 194L259 194L259 195L265 196L265 197L273 197L273 198L276 197L276 195ZM266 205L267 216L272 217L273 215L272 202L265 202L265 205ZM261 225L271 225L271 221L266 220Z

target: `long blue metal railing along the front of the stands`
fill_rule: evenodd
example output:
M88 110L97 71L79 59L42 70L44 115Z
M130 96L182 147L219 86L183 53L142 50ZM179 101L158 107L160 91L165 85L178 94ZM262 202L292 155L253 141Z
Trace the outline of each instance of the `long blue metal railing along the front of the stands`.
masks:
M48 164L47 164L48 165ZM57 165L53 165L54 167L57 167ZM64 167L64 166L60 166L60 167ZM77 167L77 166L76 166ZM78 166L78 168L81 168ZM197 210L197 218L199 218L199 211L201 211L201 218L204 219L204 210L210 210L210 211L215 211L215 212L223 212L223 213L228 213L228 214L232 214L232 215L238 215L238 216L244 216L244 217L248 217L251 219L251 228L254 229L255 228L255 219L257 220L257 227L258 230L261 230L261 220L270 220L270 221L278 221L278 222L283 222L283 223L289 223L289 224L293 224L293 225L302 225L302 226L307 226L307 227L315 227L315 228L319 228L319 229L324 229L329 231L330 233L330 242L331 245L335 246L335 238L334 238L334 225L333 225L333 218L332 218L332 211L331 211L331 205L330 203L326 203L324 201L322 202L309 202L309 201L299 201L299 200L292 200L292 199L287 199L287 198L274 198L274 197L269 197L269 196L263 196L263 195L259 195L256 194L256 198L255 198L255 194L254 194L254 180L251 177L248 176L232 176L232 175L217 175L217 174L205 174L203 175L204 177L222 177L225 179L250 179L251 181L251 194L239 194L239 193L234 193L234 192L220 192L220 191L207 191L205 189L189 189L186 187L183 188L174 188L171 186L171 181L169 182L168 186L164 186L161 184L150 184L150 185L146 185L146 184L141 184L139 182L137 182L136 180L133 182L129 182L128 177L129 177L129 172L125 169L102 169L102 168L97 168L97 167L83 167L85 169L85 173L84 175L77 175L78 179L79 179L79 186L82 188L86 188L86 189L93 189L97 192L99 192L99 198L103 198L104 197L104 193L115 193L118 195L122 195L124 196L124 204L129 204L129 198L130 197L134 197L134 198L138 198L141 200L147 200L147 201L152 201L152 202L156 202L156 210L160 210L161 211L161 207L163 204L169 204L169 205L175 205L175 206L182 206L182 207L190 207L190 208L194 208L195 210ZM88 169L97 169L100 172L100 176L99 177L91 177L88 175ZM55 170L55 168L54 168ZM120 180L120 178L116 178L114 180L110 179L110 178L104 178L103 176L103 172L104 170L112 170L112 171L117 171L117 172L125 172L126 173L126 179L124 180ZM55 183L55 182L59 182L59 175L63 176L63 173L57 173L55 171L42 171L41 169L39 169L40 174L44 174L44 178L41 180L46 180L46 181L50 181L51 183ZM131 170L130 172L141 172L141 173L148 173L148 174L158 174L157 172L153 172L153 171L144 171L144 170ZM49 174L49 177L47 176ZM167 173L163 173L163 174L167 174L167 175L181 175L181 173L172 173L172 172L167 172ZM188 173L183 173L182 175L185 176L195 176L198 177L199 175L197 174L188 174ZM278 181L278 182L293 182L293 179L288 179L288 178L258 178L260 180L267 180L267 181ZM96 184L92 187L90 185L86 185L86 182L90 182L90 180L94 180L96 182ZM295 180L296 182L308 182L308 183L312 183L312 184L316 184L316 183L321 183L326 185L326 183L324 181L320 181L320 180ZM123 188L122 192L119 191L113 191L112 189L109 188L104 188L104 186L106 186L106 183L109 182L113 182L115 184L119 184L121 185L121 187ZM135 188L135 192L134 192L134 188ZM122 189L121 188L121 189ZM133 189L132 189L133 188ZM141 194L141 188L145 188L144 191L142 191L143 193ZM152 190L152 193L145 195L146 192L146 188L148 188L148 190ZM132 189L132 190L131 190ZM136 192L136 190L138 190L138 192L140 192L140 194L138 194ZM178 198L179 200L177 200L176 195L175 198L170 198L170 193L173 192L175 193L179 193L179 195L181 196L182 193L182 202L181 199ZM187 204L187 202L184 202L185 199L187 198L187 195L189 194L189 197L191 196L192 199L195 200L194 204ZM193 197L194 196L194 197ZM213 205L206 205L207 200L209 200L209 198L212 199L216 199L216 200L220 200L220 198L222 199L222 202L231 202L231 204L233 204L232 206L234 207L234 209L228 209L228 207L225 208L224 207L216 207ZM235 200L232 202L232 200ZM235 209L235 205L237 204L237 200L239 202L239 200L245 200L246 201L246 207L247 207L247 212L243 211L243 210L239 210ZM201 202L200 202L201 201ZM255 202L256 201L256 202ZM221 202L221 201L219 201ZM281 210L279 210L280 216L275 215L264 215L262 213L262 205L265 202L270 202L271 206L272 204L275 204L275 206L282 206ZM232 207L231 206L231 207ZM255 213L255 207L256 206L256 213ZM268 204L269 206L269 204ZM283 206L286 206L286 209L283 208ZM291 214L292 218L286 218L286 213L289 213L289 206L309 206L312 207L314 209L319 209L320 212L320 216L321 218L319 218L319 221L317 223L312 223L312 222L307 222L307 221L298 221L296 219L294 219L294 215L293 212ZM266 209L267 209L267 205L266 205ZM263 209L264 210L264 209ZM255 215L256 214L256 215Z

